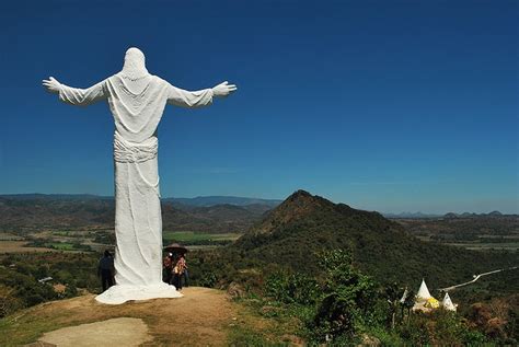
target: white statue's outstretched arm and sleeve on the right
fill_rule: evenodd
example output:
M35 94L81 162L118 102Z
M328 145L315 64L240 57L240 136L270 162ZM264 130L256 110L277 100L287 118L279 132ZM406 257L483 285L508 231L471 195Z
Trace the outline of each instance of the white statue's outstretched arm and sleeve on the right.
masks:
M229 82L220 83L214 88L189 92L170 84L168 103L183 107L203 107L212 103L212 97L228 96L237 86Z

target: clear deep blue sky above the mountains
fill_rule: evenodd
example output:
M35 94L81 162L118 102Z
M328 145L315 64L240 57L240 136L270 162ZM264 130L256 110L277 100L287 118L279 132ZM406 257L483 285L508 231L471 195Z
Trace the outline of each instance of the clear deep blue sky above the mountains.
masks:
M150 72L239 91L170 106L163 196L380 211L519 211L518 2L12 1L0 4L0 193L113 194L106 104L60 103L141 48Z

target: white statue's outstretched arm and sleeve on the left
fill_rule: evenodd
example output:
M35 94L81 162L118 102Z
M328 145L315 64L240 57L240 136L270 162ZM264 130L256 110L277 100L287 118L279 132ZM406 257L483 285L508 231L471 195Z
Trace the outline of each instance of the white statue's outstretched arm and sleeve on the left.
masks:
M58 93L59 100L67 104L86 106L107 97L104 81L86 89L71 88L59 83L54 77L43 80L43 85L50 93Z

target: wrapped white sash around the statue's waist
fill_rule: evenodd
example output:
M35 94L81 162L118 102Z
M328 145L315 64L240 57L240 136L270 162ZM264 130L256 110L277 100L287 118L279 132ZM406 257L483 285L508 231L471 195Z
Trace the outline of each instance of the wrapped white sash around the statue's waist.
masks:
M151 137L142 142L125 140L118 132L114 135L114 160L119 163L141 163L157 157L159 140Z

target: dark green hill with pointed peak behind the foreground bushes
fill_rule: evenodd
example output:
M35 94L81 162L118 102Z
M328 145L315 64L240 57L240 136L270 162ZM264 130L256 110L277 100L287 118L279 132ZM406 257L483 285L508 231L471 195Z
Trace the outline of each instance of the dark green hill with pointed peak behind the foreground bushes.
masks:
M356 265L381 282L417 286L425 278L442 288L478 274L519 263L511 253L477 253L425 243L378 212L334 204L298 190L237 241L246 257L315 273L316 254L350 247Z

